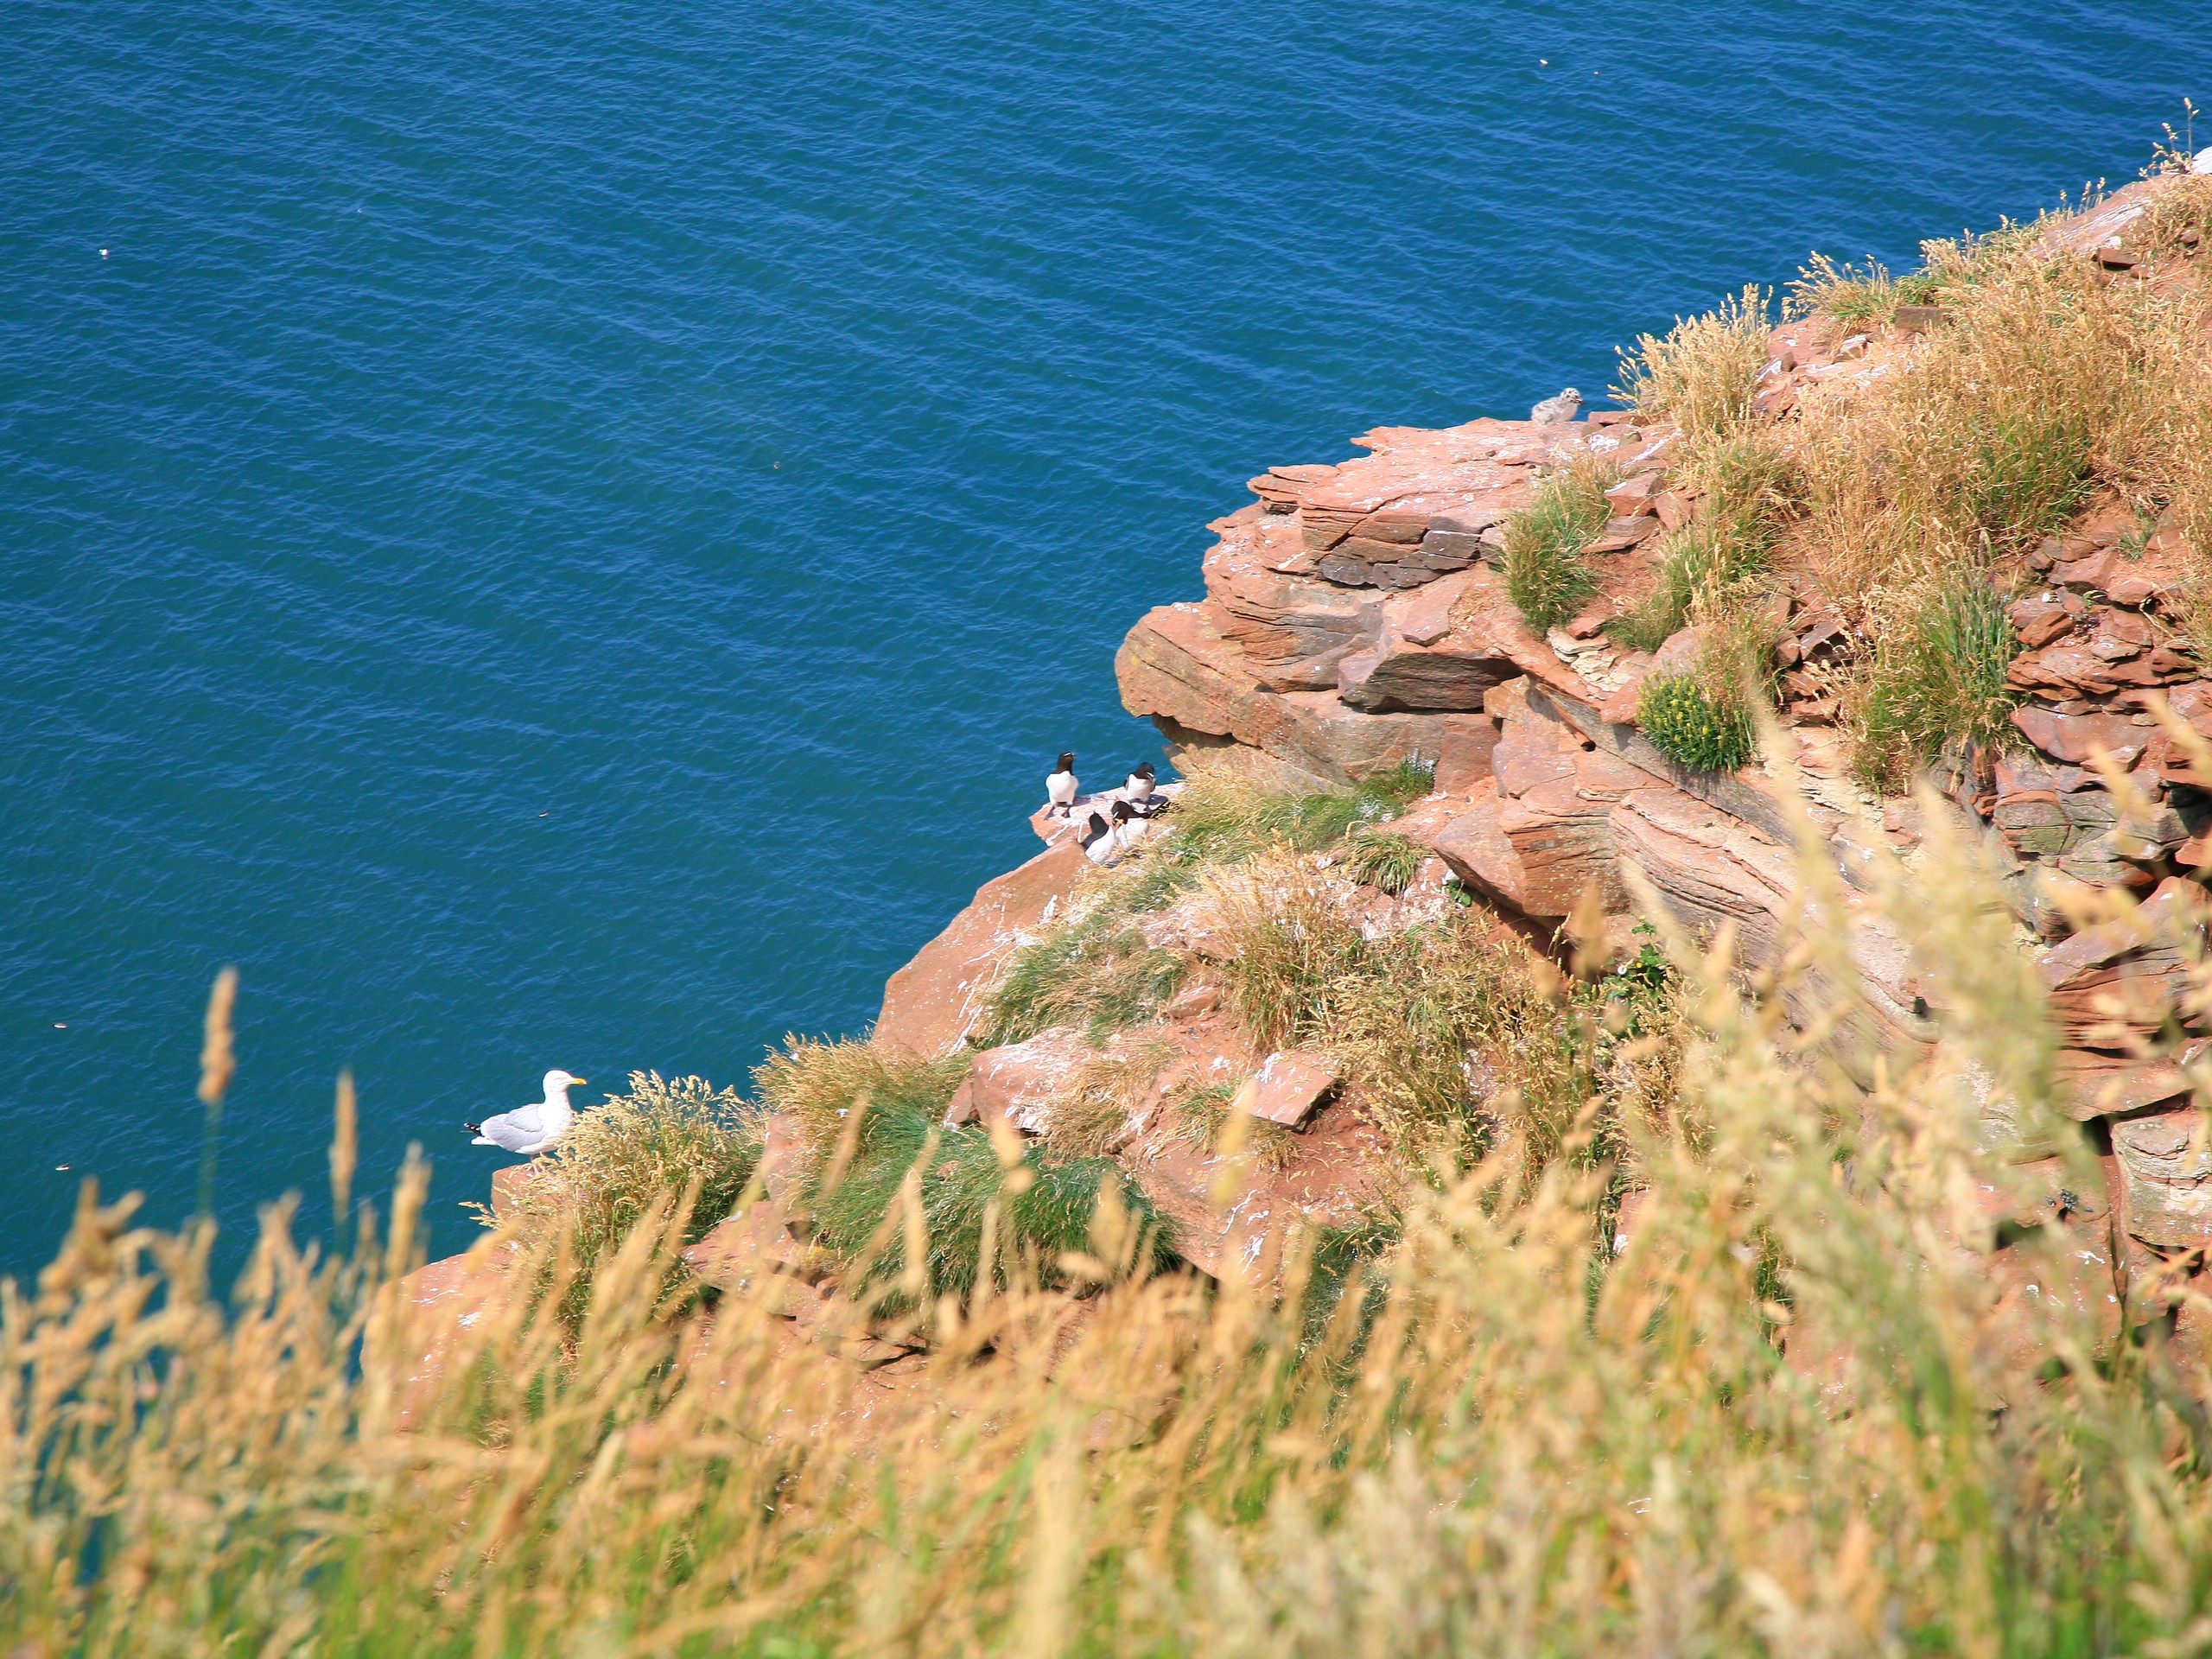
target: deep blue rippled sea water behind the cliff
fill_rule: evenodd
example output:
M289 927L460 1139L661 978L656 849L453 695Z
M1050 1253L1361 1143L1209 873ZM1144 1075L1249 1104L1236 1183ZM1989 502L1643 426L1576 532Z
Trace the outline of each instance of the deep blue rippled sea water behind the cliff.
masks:
M2203 0L13 0L0 1272L858 1031L1208 518L2121 181ZM2199 144L2205 139L2199 137ZM597 1099L597 1088L586 1091ZM58 1168L58 1166L69 1166Z

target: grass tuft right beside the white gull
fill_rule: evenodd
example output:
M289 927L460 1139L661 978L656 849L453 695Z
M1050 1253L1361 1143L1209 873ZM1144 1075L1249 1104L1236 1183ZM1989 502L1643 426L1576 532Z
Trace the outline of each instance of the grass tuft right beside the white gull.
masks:
M573 1279L560 1310L577 1325L599 1261L639 1219L697 1188L686 1237L699 1239L737 1208L759 1164L759 1115L734 1088L633 1071L628 1093L577 1113L575 1128L538 1159L500 1221L524 1243L568 1241ZM480 1219L498 1225L489 1210Z

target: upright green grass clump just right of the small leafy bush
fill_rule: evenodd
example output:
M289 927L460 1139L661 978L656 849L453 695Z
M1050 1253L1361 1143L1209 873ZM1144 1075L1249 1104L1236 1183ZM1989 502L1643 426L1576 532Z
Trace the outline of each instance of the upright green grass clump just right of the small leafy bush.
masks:
M1856 770L1876 787L1905 787L1947 739L1989 741L2008 728L2015 697L2004 595L1966 571L1907 597L1874 641L1854 695Z

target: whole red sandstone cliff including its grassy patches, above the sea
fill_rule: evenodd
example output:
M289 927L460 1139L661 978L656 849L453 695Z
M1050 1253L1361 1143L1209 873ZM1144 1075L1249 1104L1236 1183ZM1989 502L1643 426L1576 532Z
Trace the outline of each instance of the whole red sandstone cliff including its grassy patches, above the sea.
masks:
M2188 223L2174 230L2159 206L2192 188L2146 179L2093 212L2046 219L2026 257L2115 307L2170 310L2166 325L2203 347L2194 243L2172 241ZM2000 288L1995 243L1951 257ZM2022 248L2002 257L2022 281ZM1630 1018L1621 984L1577 1011L1546 975L1573 969L1606 987L1635 962L1648 973L1637 933L1652 938L1652 920L1692 947L1719 942L1745 984L1767 984L1860 1079L1927 1064L1958 991L1929 978L1898 894L1927 874L1933 843L1938 867L1964 860L2002 896L2053 1020L2026 1084L2039 1099L2024 1102L2022 1077L2002 1066L1969 1068L1986 1139L2013 1166L1989 1192L1991 1214L2088 1241L2093 1265L2066 1294L2108 1338L2130 1287L2157 1285L2194 1343L2185 1292L2212 1243L2190 1150L2208 1031L2190 987L2212 867L2212 679L2194 633L2201 520L2185 520L2205 509L2188 480L2146 480L2141 458L2130 473L2084 445L2048 500L2000 502L1993 522L1953 526L1951 546L1971 557L1969 599L2000 617L1982 672L2002 684L1955 708L1951 730L1938 721L1882 748L1869 686L1911 613L1885 582L1942 597L1953 577L1867 582L1849 549L1823 546L1838 491L1827 480L1823 495L1807 476L1823 445L1869 420L1865 405L1942 374L1944 352L1986 356L1973 332L2006 323L1975 316L1986 299L1966 276L1951 305L1880 283L1823 265L1781 325L1763 303L1756 316L1739 305L1708 319L1719 332L1699 349L1732 354L1741 376L1719 418L1655 392L1666 349L1697 327L1683 325L1630 358L1641 396L1628 407L1380 427L1349 460L1252 478L1256 500L1212 524L1206 595L1146 613L1115 657L1124 703L1159 726L1194 792L1150 825L1150 845L1113 860L1121 869L1075 841L1082 816L1119 790L1073 816L1040 812L1046 847L891 975L872 1064L933 1068L945 1130L989 1126L1033 1157L1110 1161L1175 1259L1274 1283L1294 1237L1387 1237L1433 1137L1495 1148L1528 1133L1513 1119L1531 1091L1597 1086L1573 1082L1577 1066L1619 1071L1584 1044L1564 1073L1533 1079L1513 1051L1573 1051L1582 1040L1568 1033L1593 1009ZM1966 403L1969 422L1995 407ZM1745 456L1787 480L1750 507L1730 473ZM1582 518L1546 553L1564 560L1568 588L1531 602L1526 526L1575 491ZM1851 511L1849 535L1880 535L1863 502ZM1756 557L1714 568L1745 520ZM1703 575L1686 580L1699 560ZM1557 588L1559 573L1546 580ZM1714 657L1717 639L1745 635L1756 668L1741 648ZM1688 684L1725 714L1730 668L1765 710L1756 752L1699 763L1650 719L1646 690ZM1750 717L1736 719L1747 732ZM1223 799L1245 803L1230 807L1243 841L1228 858L1206 845L1212 832L1186 827L1219 816ZM1252 801L1349 803L1352 816L1321 836L1254 834L1267 807ZM1394 995L1420 995L1433 938L1480 938L1515 962L1495 971L1520 1013L1480 1031L1453 1015L1398 1033L1405 1055L1365 1062L1363 1044L1378 1040L1356 1022L1254 1013L1245 951L1301 907L1310 916L1292 931L1363 940L1374 960L1343 978ZM1832 942L1818 960L1803 949L1809 916ZM1102 995L1088 982L1102 973L1150 980ZM1650 1011L1635 1022L1661 1024ZM1420 1106L1394 1104L1398 1073L1433 1044L1453 1048L1442 1093L1455 1099L1440 1106L1427 1079ZM1613 1088L1606 1113L1652 1084ZM2086 1126L2093 1179L2033 1121L2044 1110ZM708 1281L730 1276L730 1261L805 1259L807 1283L836 1296L832 1256L801 1243L836 1124L801 1117L763 1119L761 1203L690 1250ZM1606 1144L1619 1164L1601 1225L1626 1237L1639 1177L1619 1135ZM2002 1230L1982 1261L1995 1281L2013 1272ZM460 1272L429 1270L425 1294L451 1296ZM885 1334L860 1323L869 1340ZM878 1360L925 1347L911 1321L891 1334Z

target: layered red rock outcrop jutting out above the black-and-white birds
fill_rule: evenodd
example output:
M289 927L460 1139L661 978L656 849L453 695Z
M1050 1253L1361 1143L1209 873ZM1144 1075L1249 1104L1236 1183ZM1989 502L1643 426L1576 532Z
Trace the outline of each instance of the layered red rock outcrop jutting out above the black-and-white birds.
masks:
M2143 274L2126 237L2157 188L2130 186L2059 226L2053 254L2095 259L2104 279ZM1905 367L1942 321L1938 307L1900 307L1891 330L1854 334L1827 319L1774 330L1759 409L1790 420L1847 398ZM1659 535L1699 511L1670 476L1674 434L1593 416L1385 427L1358 445L1371 453L1252 480L1256 504L1212 526L1206 599L1152 611L1124 641L1128 708L1170 739L1239 743L1332 783L1407 754L1436 761L1436 796L1396 827L1537 933L1593 891L1624 911L1624 869L1699 936L1730 929L1747 967L1776 962L1805 925L1834 927L1849 940L1869 1035L1882 1046L1927 1042L1940 987L1916 982L1902 938L1865 889L1876 860L1911 860L1929 825L1916 801L1878 801L1847 774L1832 726L1867 641L1845 615L1803 580L1785 580L1772 599L1794 750L1774 759L1787 765L1686 772L1635 726L1644 681L1694 670L1701 644L1690 630L1641 655L1606 639L1608 619L1650 591ZM1586 615L1535 637L1495 568L1502 529L1546 471L1584 456L1608 456L1617 478L1613 518L1584 549L1599 595ZM2112 1274L2126 1276L2130 1250L2152 1252L2143 1272L2172 1276L2212 1243L2212 1197L2201 1197L2212 1164L2188 1106L2192 1068L2212 1044L2190 1013L2199 878L2212 867L2212 759L2159 723L2163 706L2212 739L2212 681L2179 626L2183 560L2170 511L2146 522L2119 507L2035 549L2026 564L2037 584L2011 602L2013 732L1960 745L1929 774L1949 830L1986 854L2015 914L2044 940L2035 962L2059 1029L2057 1104L2110 1146L2106 1192L2053 1197L2022 1223L2101 1237L2081 1256L2090 1276L2037 1287L2011 1283L2002 1263L1993 1274L2002 1296L2086 1298L2099 1318L2117 1310ZM1843 876L1843 916L1801 914L1805 834ZM2132 922L2075 933L2068 918L2081 907L2068 894L2097 889L2148 902ZM1838 989L1801 984L1796 995L1823 1004Z

